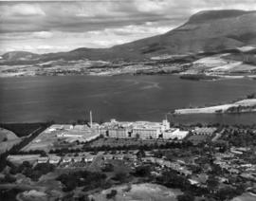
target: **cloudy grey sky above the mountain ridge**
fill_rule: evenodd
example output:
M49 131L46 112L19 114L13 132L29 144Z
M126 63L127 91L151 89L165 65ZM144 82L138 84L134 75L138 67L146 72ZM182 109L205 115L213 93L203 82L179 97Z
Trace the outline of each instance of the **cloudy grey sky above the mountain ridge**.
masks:
M209 9L256 10L256 0L0 0L0 54L116 46L165 33Z

